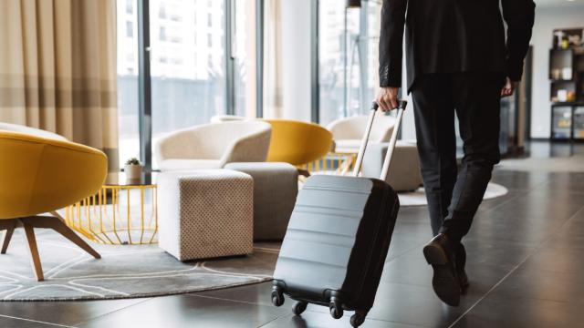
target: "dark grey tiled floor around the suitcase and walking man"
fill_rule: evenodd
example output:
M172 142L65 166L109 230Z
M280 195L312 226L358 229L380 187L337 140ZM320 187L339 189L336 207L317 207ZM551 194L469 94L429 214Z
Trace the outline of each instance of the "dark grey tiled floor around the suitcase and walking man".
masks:
M531 151L574 153L560 147ZM465 240L471 288L460 307L434 296L421 253L430 238L427 211L403 208L363 327L582 326L584 173L496 170L494 180L509 193L484 202ZM308 306L295 317L290 300L276 308L269 292L267 282L151 299L0 302L0 327L349 327L350 313L335 321L326 308Z

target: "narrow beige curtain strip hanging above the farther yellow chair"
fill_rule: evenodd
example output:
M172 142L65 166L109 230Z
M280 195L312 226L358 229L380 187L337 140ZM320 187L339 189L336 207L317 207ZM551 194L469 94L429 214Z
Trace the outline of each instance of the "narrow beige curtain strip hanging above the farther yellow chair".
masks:
M264 117L282 118L282 5L266 0L264 31Z

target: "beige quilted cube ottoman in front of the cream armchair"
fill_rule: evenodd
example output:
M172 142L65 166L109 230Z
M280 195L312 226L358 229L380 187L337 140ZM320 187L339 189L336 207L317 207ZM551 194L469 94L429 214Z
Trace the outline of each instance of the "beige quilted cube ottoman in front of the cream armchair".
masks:
M254 182L229 169L163 172L158 179L159 246L180 261L249 254Z

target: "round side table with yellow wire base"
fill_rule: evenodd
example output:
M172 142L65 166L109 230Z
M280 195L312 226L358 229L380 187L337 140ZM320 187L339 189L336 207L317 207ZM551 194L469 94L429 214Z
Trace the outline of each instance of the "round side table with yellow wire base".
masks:
M126 179L110 173L96 195L68 206L67 225L90 241L112 245L142 245L157 241L156 173Z

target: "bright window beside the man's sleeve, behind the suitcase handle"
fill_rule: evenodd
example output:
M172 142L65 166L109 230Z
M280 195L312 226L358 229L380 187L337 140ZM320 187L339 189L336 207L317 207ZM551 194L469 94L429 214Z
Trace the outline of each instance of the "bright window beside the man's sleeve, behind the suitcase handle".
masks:
M377 77L379 1L318 0L318 85L321 124L366 112Z

